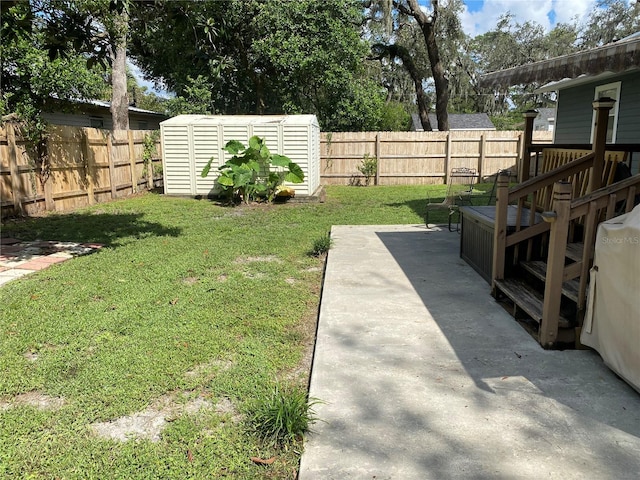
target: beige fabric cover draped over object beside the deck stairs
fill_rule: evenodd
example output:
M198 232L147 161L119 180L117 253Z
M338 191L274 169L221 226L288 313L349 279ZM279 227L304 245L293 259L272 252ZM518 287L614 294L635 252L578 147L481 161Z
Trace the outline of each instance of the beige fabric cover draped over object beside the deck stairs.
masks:
M580 340L640 391L640 206L600 224L593 265Z

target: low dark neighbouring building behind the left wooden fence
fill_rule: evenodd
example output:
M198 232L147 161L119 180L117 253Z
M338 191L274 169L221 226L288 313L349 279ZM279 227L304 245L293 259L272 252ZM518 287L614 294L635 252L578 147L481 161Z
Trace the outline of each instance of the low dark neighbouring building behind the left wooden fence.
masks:
M93 127L104 130L113 129L111 118L111 104L101 100L79 102L73 110L66 112L61 108L59 112L44 113L43 119L54 125L69 125L72 127ZM129 128L131 130L159 130L160 122L169 117L157 112L129 107Z

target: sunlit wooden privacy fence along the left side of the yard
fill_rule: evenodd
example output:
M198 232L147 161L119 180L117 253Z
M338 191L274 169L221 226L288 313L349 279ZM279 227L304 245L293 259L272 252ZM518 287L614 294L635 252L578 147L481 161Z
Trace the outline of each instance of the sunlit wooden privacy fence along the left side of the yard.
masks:
M67 211L153 188L154 165L161 165L160 140L150 161L143 159L149 130L107 131L51 126L47 140L49 175L10 123L0 129L2 217Z

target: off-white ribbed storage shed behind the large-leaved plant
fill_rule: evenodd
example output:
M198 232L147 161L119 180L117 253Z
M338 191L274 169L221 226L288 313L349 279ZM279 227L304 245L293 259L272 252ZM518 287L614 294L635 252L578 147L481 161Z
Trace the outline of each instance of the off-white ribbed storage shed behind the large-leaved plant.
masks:
M178 115L160 123L164 193L213 195L218 167L231 157L230 140L248 146L257 135L272 153L286 155L304 172L304 182L291 184L296 195L313 195L320 187L320 127L315 115ZM202 169L213 157L211 171Z

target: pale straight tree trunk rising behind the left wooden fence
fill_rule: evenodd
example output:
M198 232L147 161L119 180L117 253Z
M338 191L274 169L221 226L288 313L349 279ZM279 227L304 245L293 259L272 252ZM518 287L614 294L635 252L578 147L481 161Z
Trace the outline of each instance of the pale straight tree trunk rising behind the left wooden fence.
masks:
M127 93L127 24L128 15L117 18L118 34L111 64L111 118L114 130L129 130L129 94Z

